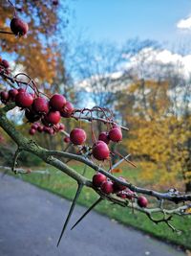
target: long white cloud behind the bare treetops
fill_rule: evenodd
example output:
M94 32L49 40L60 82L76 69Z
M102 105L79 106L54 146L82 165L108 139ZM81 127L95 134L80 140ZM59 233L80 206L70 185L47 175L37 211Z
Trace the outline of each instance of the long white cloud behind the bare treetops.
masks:
M126 86L127 83L124 81L124 83L121 82L118 84L117 80L128 70L132 70L139 77L155 77L155 74L159 76L159 72L162 72L162 65L169 65L170 69L168 69L168 72L172 70L184 79L189 79L191 76L191 55L183 56L167 49L146 47L133 57L123 54L123 58L126 58L127 61L120 67L119 71L110 74L95 75L80 81L77 85L79 90L83 88L87 92L92 92L92 85L96 84L96 86L100 86L101 91L102 82L104 79L108 78L111 79L110 89L113 91L120 90L123 86Z

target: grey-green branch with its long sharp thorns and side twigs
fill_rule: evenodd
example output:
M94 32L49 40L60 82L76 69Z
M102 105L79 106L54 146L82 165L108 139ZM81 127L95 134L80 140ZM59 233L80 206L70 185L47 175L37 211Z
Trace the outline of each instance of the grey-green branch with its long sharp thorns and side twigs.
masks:
M29 84L29 82L25 81L18 81L15 78L11 78L9 76L3 76L4 79L8 79L11 82L16 82L17 84L23 83L23 84ZM33 85L33 84L32 84ZM34 92L37 91L36 87L33 89ZM37 91L38 92L38 91ZM100 166L96 165L91 158L89 158L89 151L83 151L83 149L80 149L78 153L69 153L67 151L48 151L46 149L43 149L39 147L34 141L27 139L24 137L19 131L15 129L15 127L11 124L11 122L8 120L6 117L6 113L11 110L15 105L14 104L8 104L3 108L0 108L0 127L3 128L10 136L11 139L16 143L18 149L15 152L14 159L13 159L13 165L12 165L12 171L16 173L15 165L16 165L16 160L21 151L29 151L35 155L37 155L39 158L44 160L46 163L52 165L53 167L57 168L61 172L65 173L66 175L71 176L78 184L78 189L74 197L73 204L71 206L71 209L69 211L67 220L64 223L60 238L58 240L58 244L60 243L60 240L63 236L63 233L67 227L68 222L70 221L70 218L73 214L74 211L74 206L76 203L77 198L79 197L81 193L81 189L83 186L87 186L92 188L93 190L96 191L96 194L99 196L99 198L96 200L96 202L87 210L87 212L79 219L81 221L95 206L97 203L100 203L102 200L107 199L111 201L112 203L118 204L123 207L129 207L133 208L134 210L138 210L142 213L144 213L151 221L155 223L159 222L165 222L173 231L177 231L176 228L170 223L172 221L172 216L173 215L179 215L179 216L185 216L189 214L189 211L191 209L191 195L185 195L183 193L178 192L175 189L171 189L165 193L160 193L158 191L150 190L150 189L145 189L145 188L140 188L138 186L135 186L131 184L130 182L123 181L121 179L118 179L115 175L112 175L111 172L106 171L105 169L101 168ZM88 109L90 110L90 109ZM98 108L96 109L98 111ZM77 112L78 110L76 110ZM75 119L80 119L80 120L88 120L92 121L93 117L86 116L86 117L79 117L79 116L74 116ZM104 120L100 118L95 118L94 120L100 121L100 122L110 122L112 124L116 124L113 120ZM84 163L86 166L89 166L90 168L94 169L96 172L99 172L103 175L106 175L108 178L111 180L117 182L120 185L124 185L127 188L129 188L131 191L134 192L134 196L132 198L132 203L129 202L128 199L123 199L123 198L117 198L116 195L110 194L106 195L101 192L99 188L96 188L92 181L86 178L84 175L78 174L76 171L74 171L73 168L69 167L64 161L62 161L60 158L64 158L65 160L69 159L74 159L76 161ZM125 158L127 158L129 155L127 155ZM116 168L118 164L120 164L125 158L121 159L118 161L116 165L111 167L109 171L112 169ZM150 196L152 198L156 198L159 201L159 207L157 208L142 208L138 206L138 203L136 201L136 198L138 198L138 194L143 194ZM174 202L175 204L179 204L180 206L173 207L170 209L164 209L163 208L163 200L166 201L171 201ZM156 213L162 213L163 217L160 219L155 219L153 217L154 214ZM77 221L77 223L79 222ZM75 223L74 226L77 224Z

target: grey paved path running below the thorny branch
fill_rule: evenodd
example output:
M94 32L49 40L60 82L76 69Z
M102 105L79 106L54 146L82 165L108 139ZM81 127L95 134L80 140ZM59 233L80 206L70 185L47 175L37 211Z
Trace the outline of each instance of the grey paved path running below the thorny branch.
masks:
M11 176L0 179L0 256L183 256L95 212L56 242L70 202ZM84 212L77 206L72 223Z

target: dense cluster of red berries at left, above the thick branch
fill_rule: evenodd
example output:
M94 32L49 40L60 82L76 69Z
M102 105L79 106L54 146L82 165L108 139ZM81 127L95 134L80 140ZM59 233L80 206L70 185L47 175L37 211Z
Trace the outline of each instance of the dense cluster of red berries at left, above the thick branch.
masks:
M54 94L50 100L32 94L24 88L11 89L0 93L1 102L7 105L14 102L15 105L25 110L25 117L30 123L41 121L43 126L35 123L30 129L33 135L36 130L54 134L58 130L63 130L64 125L59 124L61 117L68 118L74 112L74 106L67 102L61 94ZM37 125L38 124L38 125Z

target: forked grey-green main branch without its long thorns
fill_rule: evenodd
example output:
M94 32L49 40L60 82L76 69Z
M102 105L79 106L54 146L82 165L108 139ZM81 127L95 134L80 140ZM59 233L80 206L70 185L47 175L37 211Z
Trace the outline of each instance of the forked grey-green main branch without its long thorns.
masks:
M162 209L161 207L148 209L148 208L138 207L136 202L132 203L132 205L131 205L129 203L129 200L123 199L123 198L118 198L114 194L106 195L106 194L102 193L102 191L100 189L93 186L92 182L89 179L87 179L83 175L78 174L76 171L74 171L74 169L72 169L71 167L66 165L64 162L62 162L58 158L64 157L67 159L74 159L76 161L82 162L82 163L86 164L87 166L91 167L92 169L94 169L96 172L100 172L101 174L106 175L111 180L116 181L118 184L125 185L126 187L128 187L129 189L131 189L132 191L137 192L137 193L148 195L153 198L158 198L160 200L165 199L165 200L169 200L169 201L174 201L176 203L191 201L191 195L180 195L180 193L178 193L175 190L169 190L166 193L159 193L154 190L137 187L129 182L124 182L121 179L118 179L116 176L111 175L110 173L108 173L107 171L102 169L101 167L97 166L93 161L91 161L86 155L87 151L86 151L86 154L83 155L83 154L69 153L66 151L48 151L46 149L39 147L34 141L27 139L19 131L17 131L14 128L13 124L11 124L11 122L6 117L6 112L9 111L13 106L14 105L6 105L5 107L0 108L0 127L3 128L11 136L11 139L17 144L19 150L22 149L22 151L29 151L29 152L37 155L42 160L44 160L46 163L52 165L53 167L57 168L61 172L65 173L66 175L71 176L78 184L80 184L80 186L85 185L87 187L91 187L92 189L94 189L96 191L96 193L100 196L100 198L110 200L112 203L118 204L123 207L129 207L129 208L133 207L133 209L136 209L136 210L146 214L147 216L149 216L150 219L152 219L151 221L154 221L156 223L161 222L161 220L153 219L151 214L158 213L158 212L163 213L163 214L169 214L169 215L177 214L180 216L189 214L189 212L187 213L186 210L191 208L191 204L183 205L183 206L177 207L172 210ZM57 158L55 158L55 157L57 157ZM175 229L171 225L171 223L169 223L169 221L171 221L170 219L163 219L163 221L166 222L166 224L170 228ZM64 227L64 229L65 229L65 227Z

